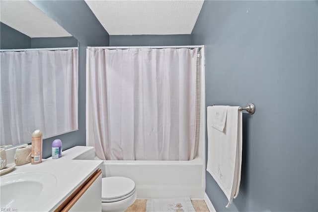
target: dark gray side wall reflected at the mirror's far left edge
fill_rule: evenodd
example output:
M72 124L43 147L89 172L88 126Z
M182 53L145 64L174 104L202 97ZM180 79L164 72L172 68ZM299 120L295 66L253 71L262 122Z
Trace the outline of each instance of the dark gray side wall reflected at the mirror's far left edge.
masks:
M0 49L31 48L31 38L0 22Z

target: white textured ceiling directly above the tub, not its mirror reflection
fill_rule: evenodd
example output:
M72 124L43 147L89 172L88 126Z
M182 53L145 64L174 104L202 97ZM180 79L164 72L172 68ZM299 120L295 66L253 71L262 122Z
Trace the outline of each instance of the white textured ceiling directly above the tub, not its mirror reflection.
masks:
M110 35L191 34L203 0L85 0Z

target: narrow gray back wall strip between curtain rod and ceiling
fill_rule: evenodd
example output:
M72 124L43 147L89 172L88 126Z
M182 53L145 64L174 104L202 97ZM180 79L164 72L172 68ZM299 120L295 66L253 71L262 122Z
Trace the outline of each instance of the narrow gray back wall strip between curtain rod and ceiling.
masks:
M183 46L191 35L110 35L110 46Z

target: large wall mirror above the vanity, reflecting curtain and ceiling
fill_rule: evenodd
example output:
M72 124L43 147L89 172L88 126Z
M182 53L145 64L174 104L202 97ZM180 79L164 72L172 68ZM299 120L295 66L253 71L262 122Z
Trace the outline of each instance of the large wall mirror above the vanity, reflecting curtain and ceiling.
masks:
M78 47L77 39L29 0L0 1L0 33L0 146L30 143L35 129L43 138L77 130L78 52L69 48ZM15 69L5 65L9 61Z

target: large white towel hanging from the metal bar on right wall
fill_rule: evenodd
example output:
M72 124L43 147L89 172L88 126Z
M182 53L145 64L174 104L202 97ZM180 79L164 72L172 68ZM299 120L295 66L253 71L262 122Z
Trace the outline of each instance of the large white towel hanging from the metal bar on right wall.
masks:
M214 114L226 113L223 131L213 127ZM242 112L239 106L208 106L208 164L207 171L228 198L230 208L239 194L242 162Z

